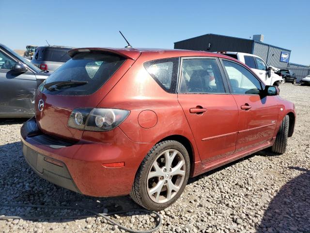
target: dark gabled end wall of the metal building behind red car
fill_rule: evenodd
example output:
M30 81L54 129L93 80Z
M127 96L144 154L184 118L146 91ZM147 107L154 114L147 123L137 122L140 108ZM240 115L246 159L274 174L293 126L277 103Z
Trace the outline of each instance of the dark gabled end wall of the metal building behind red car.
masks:
M209 43L211 44L210 49ZM202 50L209 52L232 51L251 53L253 40L231 36L206 34L174 43L174 49Z

